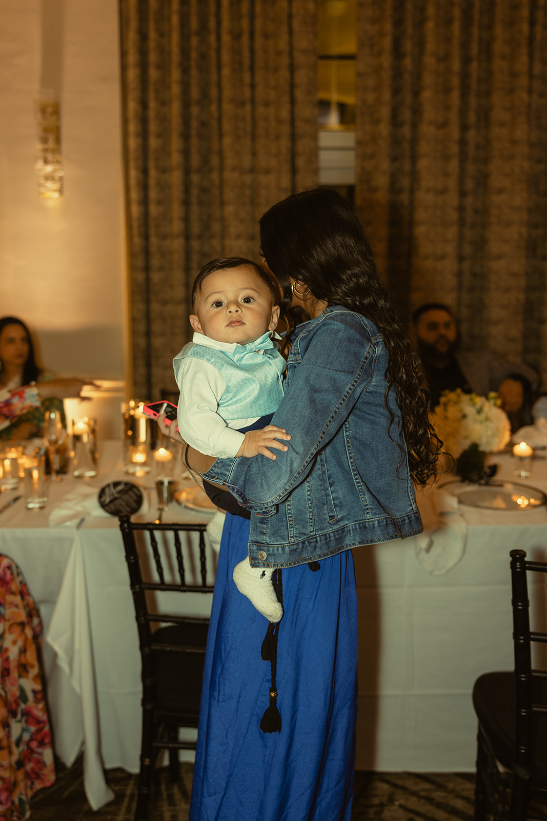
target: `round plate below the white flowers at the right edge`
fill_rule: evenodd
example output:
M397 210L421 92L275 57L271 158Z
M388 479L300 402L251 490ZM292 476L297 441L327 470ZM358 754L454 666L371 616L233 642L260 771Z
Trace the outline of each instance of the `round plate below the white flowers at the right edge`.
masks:
M485 507L497 511L536 510L547 503L547 496L538 488L517 482L491 481L487 484L447 482L441 484L462 505Z

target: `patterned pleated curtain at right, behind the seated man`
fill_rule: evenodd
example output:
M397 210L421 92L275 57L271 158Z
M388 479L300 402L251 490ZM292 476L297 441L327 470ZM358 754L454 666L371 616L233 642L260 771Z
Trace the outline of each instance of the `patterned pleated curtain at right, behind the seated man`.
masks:
M356 202L403 319L547 376L545 0L359 0Z

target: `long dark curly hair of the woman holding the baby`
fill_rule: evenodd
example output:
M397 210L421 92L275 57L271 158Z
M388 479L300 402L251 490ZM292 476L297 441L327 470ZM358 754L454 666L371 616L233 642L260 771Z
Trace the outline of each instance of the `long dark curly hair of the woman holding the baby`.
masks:
M390 305L357 213L334 189L303 191L263 214L260 241L262 255L283 288L285 305L291 296L289 277L293 277L305 283L316 300L342 305L376 325L389 361L384 401L390 428L394 415L387 396L393 388L410 473L417 484L426 484L436 473L441 443L427 413L419 358ZM290 311L285 310L285 315L292 324Z

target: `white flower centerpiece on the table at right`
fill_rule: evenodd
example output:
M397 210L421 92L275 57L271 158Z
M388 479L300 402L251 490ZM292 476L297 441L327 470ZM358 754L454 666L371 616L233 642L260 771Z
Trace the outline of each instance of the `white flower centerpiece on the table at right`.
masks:
M486 454L503 450L511 438L511 425L499 405L497 393L477 397L458 388L441 394L432 423L460 475L480 472Z

